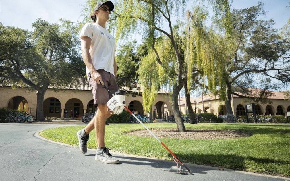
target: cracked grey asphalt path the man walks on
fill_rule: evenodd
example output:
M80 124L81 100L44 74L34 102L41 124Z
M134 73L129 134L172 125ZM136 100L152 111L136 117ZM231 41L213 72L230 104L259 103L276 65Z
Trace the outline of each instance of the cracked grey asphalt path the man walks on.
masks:
M282 178L242 171L187 164L192 174L169 171L171 161L112 153L120 164L95 161L95 151L82 154L78 147L34 136L40 130L71 126L61 124L0 124L0 180L273 180Z

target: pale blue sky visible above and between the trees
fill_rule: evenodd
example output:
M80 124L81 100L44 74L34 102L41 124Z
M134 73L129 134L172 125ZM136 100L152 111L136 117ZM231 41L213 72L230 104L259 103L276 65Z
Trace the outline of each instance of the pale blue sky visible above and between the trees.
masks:
M14 25L31 31L33 30L31 25L37 18L50 23L55 23L60 18L77 22L83 19L81 10L85 2L86 0L0 0L0 22L5 26ZM189 0L186 7L191 8L194 2L194 0ZM207 4L207 0L204 2ZM267 14L261 18L273 19L276 23L274 28L282 28L290 17L290 7L286 7L290 0L262 0L262 2ZM241 9L257 4L258 0L233 0L231 8ZM210 6L208 10L211 16ZM180 16L180 18L183 17ZM176 19L173 17L173 22ZM142 41L142 37L138 34L132 36L132 39L136 39L138 43Z

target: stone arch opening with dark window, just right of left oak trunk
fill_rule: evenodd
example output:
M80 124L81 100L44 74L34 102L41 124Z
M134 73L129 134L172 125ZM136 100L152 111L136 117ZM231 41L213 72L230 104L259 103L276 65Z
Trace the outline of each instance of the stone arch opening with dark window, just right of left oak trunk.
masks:
M61 117L61 103L55 97L46 98L43 101L44 117Z

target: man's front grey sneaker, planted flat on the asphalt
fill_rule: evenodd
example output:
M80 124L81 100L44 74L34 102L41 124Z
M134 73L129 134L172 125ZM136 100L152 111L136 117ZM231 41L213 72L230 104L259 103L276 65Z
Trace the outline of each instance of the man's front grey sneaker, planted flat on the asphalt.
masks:
M117 164L119 163L119 159L113 157L111 155L111 149L109 148L97 148L96 151L96 156L95 156L95 160L100 161L100 162L104 162L104 163L109 163L109 164Z

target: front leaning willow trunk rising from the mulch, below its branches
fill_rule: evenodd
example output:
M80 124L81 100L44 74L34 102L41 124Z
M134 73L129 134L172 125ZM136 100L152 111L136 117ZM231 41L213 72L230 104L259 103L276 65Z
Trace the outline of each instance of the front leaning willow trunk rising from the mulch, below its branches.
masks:
M181 114L180 114L180 110L178 109L178 94L180 92L182 88L182 85L180 83L180 85L174 85L173 86L173 94L172 94L172 110L173 110L173 115L175 118L175 122L177 125L177 129L180 132L185 132L185 127L184 124L182 122L182 118L181 118Z

